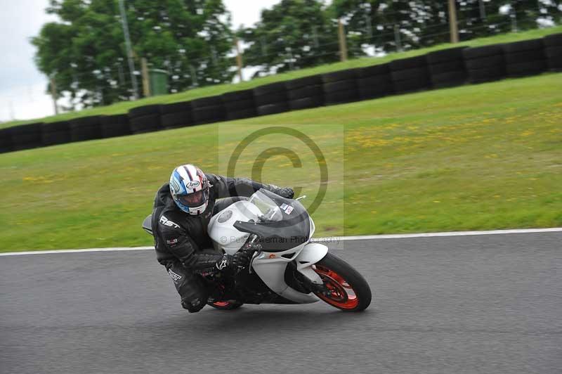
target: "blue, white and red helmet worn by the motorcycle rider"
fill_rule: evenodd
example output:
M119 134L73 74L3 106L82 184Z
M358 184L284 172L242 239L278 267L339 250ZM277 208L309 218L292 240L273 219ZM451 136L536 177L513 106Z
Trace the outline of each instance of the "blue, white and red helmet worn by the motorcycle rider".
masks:
M200 168L181 165L171 173L170 193L183 212L197 216L209 205L209 180Z

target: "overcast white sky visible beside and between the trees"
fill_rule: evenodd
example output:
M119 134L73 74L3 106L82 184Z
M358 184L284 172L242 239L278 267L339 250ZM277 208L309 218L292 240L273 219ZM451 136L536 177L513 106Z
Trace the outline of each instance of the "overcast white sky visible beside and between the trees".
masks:
M129 0L131 1L131 0ZM261 9L280 0L223 0L233 16L233 26L259 20ZM53 115L53 101L46 95L47 80L33 62L36 36L45 22L48 0L0 0L0 122Z

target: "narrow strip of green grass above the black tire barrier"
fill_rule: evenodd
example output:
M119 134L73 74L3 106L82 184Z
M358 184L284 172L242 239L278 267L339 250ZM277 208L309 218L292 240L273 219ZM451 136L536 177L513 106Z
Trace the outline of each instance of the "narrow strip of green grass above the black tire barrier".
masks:
M455 46L484 46L488 44L507 43L511 41L540 38L548 34L555 34L557 32L562 32L562 26L550 27L550 28L539 29L539 30L530 30L526 32L500 34L493 37L472 39L470 41L464 41L462 43L456 44ZM440 44L438 46L432 46L430 48L415 49L412 51L400 52L400 53L389 53L384 57L357 58L354 60L348 60L345 63L332 63L327 65L320 65L318 67L311 67L308 69L296 70L292 72L286 72L283 74L270 75L268 77L252 79L249 82L241 82L239 84L218 84L215 86L206 86L200 89L191 89L188 91L173 93L170 95L143 98L138 101L125 101L122 103L115 103L113 105L109 105L105 107L81 110L79 112L67 112L62 115L53 115L50 117L44 117L33 121L18 120L13 122L4 122L4 123L0 123L0 129L4 127L15 126L16 124L23 124L23 123L30 123L30 122L57 122L62 120L71 120L72 118L76 118L76 117L85 117L86 115L115 115L120 113L126 113L129 109L141 105L165 104L165 103L176 103L178 101L189 101L195 98L220 95L221 93L230 92L230 91L252 89L256 86L261 86L263 84L282 82L289 79L306 77L308 75L323 74L326 72L333 72L336 70L351 69L353 67L378 65L381 63L387 63L388 61L391 60L396 60L398 58L419 56L425 53L429 53L431 51L436 51L438 49L451 48L452 46L453 46L452 44Z

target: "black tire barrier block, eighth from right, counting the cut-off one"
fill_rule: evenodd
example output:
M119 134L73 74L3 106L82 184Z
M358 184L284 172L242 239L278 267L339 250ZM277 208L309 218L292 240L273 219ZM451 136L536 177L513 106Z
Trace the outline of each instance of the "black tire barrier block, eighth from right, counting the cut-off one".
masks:
M324 105L322 77L313 75L285 82L290 110L317 108Z

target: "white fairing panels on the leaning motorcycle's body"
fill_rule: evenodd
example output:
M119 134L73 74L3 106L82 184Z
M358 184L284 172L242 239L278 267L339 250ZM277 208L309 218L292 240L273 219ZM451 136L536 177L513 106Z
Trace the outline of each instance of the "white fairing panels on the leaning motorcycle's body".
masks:
M249 233L238 231L233 225L236 221L258 221L260 210L249 201L238 201L216 214L209 222L209 236L216 250L235 254L246 243ZM313 293L305 294L291 288L285 283L285 269L289 262L296 262L296 270L313 283L322 285L322 279L312 269L328 252L328 247L319 243L310 243L315 226L312 219L311 233L307 243L282 252L259 252L251 262L254 271L266 283L268 288L286 299L300 304L317 302L319 298Z

